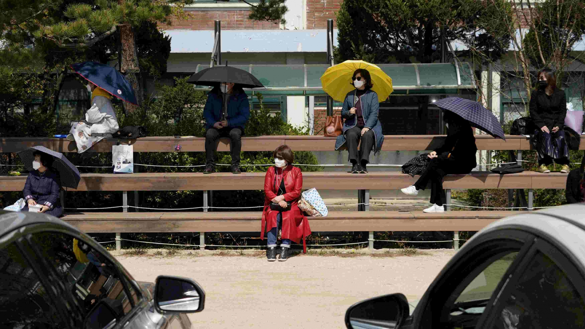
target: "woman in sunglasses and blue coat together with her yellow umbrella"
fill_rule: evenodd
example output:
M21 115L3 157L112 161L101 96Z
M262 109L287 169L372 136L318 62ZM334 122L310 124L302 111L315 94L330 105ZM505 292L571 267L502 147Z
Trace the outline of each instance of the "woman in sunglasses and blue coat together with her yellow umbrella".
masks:
M392 79L374 64L348 60L329 67L321 77L323 90L334 100L342 101L342 134L335 142L335 149L343 145L349 151L352 173L367 173L370 152L380 152L384 135L378 120L380 101L386 100L393 91ZM362 145L359 151L357 145Z

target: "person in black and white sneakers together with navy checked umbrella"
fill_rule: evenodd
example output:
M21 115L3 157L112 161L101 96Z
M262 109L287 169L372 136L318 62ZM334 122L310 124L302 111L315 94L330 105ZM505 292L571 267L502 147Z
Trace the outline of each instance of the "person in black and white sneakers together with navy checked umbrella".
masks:
M421 177L412 186L401 189L408 196L417 196L431 183L431 207L425 213L445 211L443 178L447 174L468 174L477 166L477 146L473 129L479 128L490 135L505 140L504 131L497 118L478 102L459 97L448 97L431 103L441 108L447 127L447 138L440 148L429 153L431 159Z

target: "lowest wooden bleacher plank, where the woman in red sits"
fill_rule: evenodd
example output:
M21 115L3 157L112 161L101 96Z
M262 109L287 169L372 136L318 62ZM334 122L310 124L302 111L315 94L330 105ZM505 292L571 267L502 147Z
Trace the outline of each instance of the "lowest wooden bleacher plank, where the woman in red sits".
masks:
M512 211L329 211L327 217L309 217L311 230L344 231L479 231ZM259 232L261 213L166 212L77 213L64 221L84 232Z

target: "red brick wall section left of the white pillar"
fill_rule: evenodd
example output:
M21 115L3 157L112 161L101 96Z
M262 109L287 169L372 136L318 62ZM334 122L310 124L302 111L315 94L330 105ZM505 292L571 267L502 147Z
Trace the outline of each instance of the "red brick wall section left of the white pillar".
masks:
M222 30L269 30L279 29L278 24L248 19L250 11L189 11L191 18L173 20L166 30L213 30L215 19L221 19Z

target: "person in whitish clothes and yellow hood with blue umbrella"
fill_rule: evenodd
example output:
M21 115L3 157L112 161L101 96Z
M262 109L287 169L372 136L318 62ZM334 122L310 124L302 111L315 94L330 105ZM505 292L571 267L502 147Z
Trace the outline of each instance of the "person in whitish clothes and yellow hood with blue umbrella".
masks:
M77 144L77 153L82 153L104 138L112 138L119 130L112 97L136 104L132 85L115 68L86 61L71 66L75 73L87 80L87 91L91 94L92 106L85 112L85 120L72 121L68 140Z

